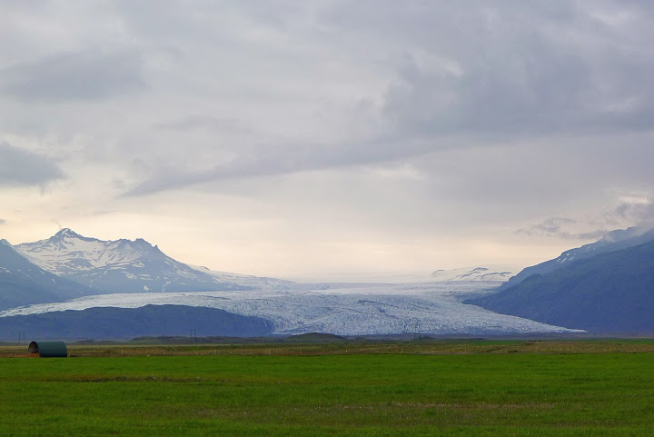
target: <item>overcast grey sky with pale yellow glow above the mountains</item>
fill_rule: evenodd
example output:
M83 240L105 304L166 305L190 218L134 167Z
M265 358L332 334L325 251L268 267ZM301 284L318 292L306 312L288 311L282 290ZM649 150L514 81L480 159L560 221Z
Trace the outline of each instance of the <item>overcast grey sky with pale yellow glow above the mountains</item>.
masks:
M0 0L0 237L344 280L654 226L654 3Z

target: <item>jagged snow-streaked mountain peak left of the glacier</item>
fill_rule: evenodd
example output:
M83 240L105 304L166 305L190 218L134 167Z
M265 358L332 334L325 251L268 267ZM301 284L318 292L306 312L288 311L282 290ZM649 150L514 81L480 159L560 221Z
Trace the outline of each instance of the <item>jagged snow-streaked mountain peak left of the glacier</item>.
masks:
M94 293L248 290L175 261L143 239L103 241L62 229L47 240L15 245L50 273L87 285Z

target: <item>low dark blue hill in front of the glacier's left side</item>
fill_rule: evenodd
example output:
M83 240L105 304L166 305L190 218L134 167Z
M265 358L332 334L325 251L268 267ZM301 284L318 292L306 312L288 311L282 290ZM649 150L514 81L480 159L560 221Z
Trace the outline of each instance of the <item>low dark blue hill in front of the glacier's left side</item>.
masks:
M184 335L259 336L272 333L272 323L223 310L183 305L146 305L140 308L89 308L0 317L0 339L118 340L137 336Z

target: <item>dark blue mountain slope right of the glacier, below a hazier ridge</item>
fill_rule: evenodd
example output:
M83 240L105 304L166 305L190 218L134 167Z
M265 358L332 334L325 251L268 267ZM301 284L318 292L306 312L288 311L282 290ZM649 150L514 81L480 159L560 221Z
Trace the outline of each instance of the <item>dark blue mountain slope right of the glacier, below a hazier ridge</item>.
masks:
M654 333L654 241L566 262L464 303L596 333Z

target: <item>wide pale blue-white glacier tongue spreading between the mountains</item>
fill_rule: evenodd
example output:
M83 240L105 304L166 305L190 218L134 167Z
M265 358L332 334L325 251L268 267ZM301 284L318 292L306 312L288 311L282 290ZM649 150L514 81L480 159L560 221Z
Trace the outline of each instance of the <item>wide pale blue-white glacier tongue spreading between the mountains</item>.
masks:
M496 283L492 283L496 285ZM272 321L275 333L334 333L369 335L412 333L563 333L565 328L537 323L463 304L474 294L487 293L489 283L351 284L342 288L292 291L210 293L133 293L87 296L65 303L45 303L0 313L8 317L30 313L84 310L114 306L177 304L219 308Z

